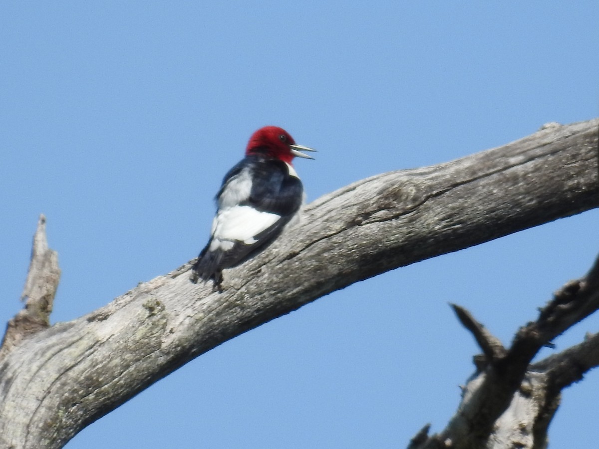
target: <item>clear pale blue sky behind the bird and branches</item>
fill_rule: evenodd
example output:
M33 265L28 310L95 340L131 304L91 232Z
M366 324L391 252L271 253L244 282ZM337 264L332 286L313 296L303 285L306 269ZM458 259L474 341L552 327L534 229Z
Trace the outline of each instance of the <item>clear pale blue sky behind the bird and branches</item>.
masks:
M264 125L319 150L308 201L599 116L597 2L2 2L0 321L38 214L53 322L205 244L223 174ZM599 211L397 269L204 354L69 442L95 448L391 448L440 430L477 347L507 344L599 253ZM557 349L596 332L590 318ZM544 350L545 355L550 350ZM552 447L595 448L599 374L563 395Z

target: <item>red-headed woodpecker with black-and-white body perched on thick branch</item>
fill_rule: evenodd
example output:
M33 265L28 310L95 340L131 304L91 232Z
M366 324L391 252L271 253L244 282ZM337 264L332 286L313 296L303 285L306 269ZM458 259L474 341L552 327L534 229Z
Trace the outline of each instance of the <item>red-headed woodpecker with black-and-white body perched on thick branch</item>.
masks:
M217 211L210 240L193 265L192 281L222 281L222 269L239 265L263 250L282 232L304 201L304 188L291 165L301 151L282 128L256 131L246 157L225 175L216 195Z

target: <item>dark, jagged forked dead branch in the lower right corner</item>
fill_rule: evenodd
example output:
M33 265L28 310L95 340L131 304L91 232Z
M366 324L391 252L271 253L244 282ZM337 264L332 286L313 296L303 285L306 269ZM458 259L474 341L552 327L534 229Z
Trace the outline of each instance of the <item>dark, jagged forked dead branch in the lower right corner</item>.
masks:
M420 445L410 448L546 447L561 390L599 365L599 338L590 336L538 363L531 361L543 345L599 309L599 257L585 277L555 293L536 321L521 327L507 351L468 311L453 308L473 333L485 363L477 364L478 372L443 432L425 439L420 431Z

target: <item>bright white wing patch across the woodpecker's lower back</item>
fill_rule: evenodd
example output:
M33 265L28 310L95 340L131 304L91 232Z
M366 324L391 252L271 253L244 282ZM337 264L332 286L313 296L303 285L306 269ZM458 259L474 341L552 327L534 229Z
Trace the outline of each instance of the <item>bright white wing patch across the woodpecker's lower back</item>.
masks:
M261 212L250 206L234 206L220 210L212 222L210 251L230 250L235 241L246 245L256 243L255 236L273 226L281 216Z

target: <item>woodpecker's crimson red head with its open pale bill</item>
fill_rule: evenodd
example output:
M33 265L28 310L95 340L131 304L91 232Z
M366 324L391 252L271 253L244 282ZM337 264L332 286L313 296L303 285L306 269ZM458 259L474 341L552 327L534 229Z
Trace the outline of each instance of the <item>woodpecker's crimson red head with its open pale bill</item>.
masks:
M260 128L247 142L246 156L250 154L264 154L283 162L291 163L295 156L314 159L298 150L315 151L302 145L297 145L294 138L283 128L278 126L264 126Z

